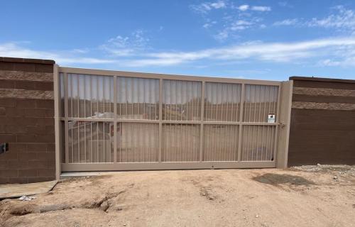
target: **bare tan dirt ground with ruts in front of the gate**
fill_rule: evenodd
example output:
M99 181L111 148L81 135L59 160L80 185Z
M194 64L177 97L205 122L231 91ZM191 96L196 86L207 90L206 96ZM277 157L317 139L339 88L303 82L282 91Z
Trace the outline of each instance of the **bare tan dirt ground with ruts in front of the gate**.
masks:
M0 226L355 226L355 166L114 172L0 201Z

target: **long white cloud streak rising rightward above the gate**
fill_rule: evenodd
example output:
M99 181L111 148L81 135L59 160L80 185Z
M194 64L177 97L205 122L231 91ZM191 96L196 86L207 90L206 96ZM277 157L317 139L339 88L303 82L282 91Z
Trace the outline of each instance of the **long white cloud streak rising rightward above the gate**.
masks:
M195 52L153 52L143 56L143 59L133 60L128 64L133 67L144 67L149 65L179 65L198 60L295 62L296 60L309 60L312 57L334 56L334 52L339 48L348 48L355 52L355 38L329 38L299 43L246 43ZM336 53L334 57L341 58L344 56Z

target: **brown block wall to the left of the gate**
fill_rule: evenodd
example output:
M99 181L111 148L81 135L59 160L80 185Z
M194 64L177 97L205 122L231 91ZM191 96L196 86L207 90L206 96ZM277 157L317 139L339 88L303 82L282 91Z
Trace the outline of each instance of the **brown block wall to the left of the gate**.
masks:
M54 64L0 57L0 184L55 179Z

